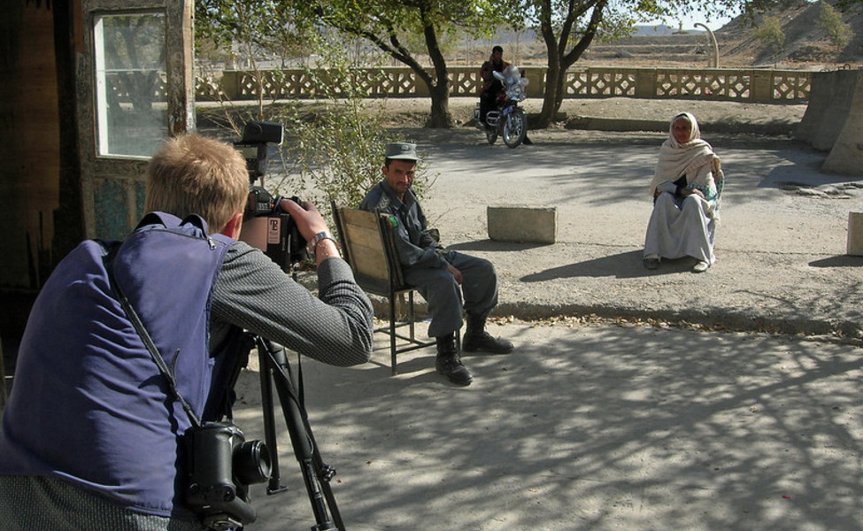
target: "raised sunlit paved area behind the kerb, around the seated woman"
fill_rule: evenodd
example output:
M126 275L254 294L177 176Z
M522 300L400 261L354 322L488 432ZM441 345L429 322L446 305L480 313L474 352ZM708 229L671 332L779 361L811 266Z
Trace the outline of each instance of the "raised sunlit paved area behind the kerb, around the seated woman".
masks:
M641 263L659 133L532 132L489 146L470 129L415 134L436 181L425 200L444 242L491 259L501 315L595 312L734 329L859 337L863 258L845 255L863 178L821 173L824 154L755 135L708 135L727 184L718 262ZM554 245L489 240L488 205L555 206Z

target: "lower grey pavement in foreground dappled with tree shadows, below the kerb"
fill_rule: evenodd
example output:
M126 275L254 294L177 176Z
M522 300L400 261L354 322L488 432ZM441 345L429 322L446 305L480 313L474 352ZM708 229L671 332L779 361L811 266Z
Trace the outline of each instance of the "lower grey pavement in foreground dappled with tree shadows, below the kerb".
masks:
M406 355L396 377L385 350L356 368L303 361L347 529L863 528L858 347L659 327L493 331L519 348L466 358L469 388L438 377L431 350ZM247 435L260 433L257 386L243 374ZM291 490L256 489L250 530L315 523L290 451Z

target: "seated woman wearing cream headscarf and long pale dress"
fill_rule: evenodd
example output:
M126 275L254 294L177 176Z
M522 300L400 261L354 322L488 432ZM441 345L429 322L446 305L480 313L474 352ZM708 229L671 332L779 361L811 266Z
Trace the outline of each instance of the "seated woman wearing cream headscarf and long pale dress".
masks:
M645 267L656 269L660 258L692 257L692 271L703 273L713 264L717 181L722 181L720 160L701 140L697 120L689 112L676 114L651 181L653 212L644 238Z

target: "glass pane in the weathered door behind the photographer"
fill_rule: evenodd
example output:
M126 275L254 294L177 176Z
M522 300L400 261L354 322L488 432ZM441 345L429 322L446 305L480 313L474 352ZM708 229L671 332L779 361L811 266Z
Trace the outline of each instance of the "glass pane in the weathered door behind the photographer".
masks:
M94 36L98 154L151 157L168 130L165 15L99 15Z

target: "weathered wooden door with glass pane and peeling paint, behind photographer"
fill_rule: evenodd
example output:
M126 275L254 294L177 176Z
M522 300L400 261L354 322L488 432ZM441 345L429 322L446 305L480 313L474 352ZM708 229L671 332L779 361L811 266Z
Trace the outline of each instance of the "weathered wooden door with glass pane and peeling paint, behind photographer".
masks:
M143 215L143 172L194 128L191 2L84 0L78 81L87 238L123 238ZM83 82L82 82L83 81Z

